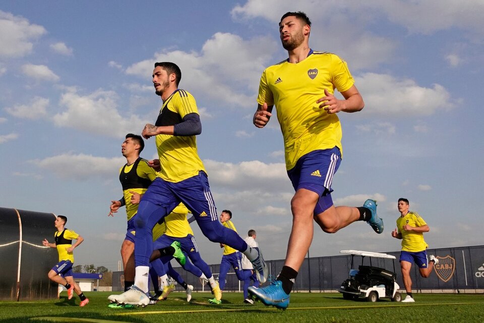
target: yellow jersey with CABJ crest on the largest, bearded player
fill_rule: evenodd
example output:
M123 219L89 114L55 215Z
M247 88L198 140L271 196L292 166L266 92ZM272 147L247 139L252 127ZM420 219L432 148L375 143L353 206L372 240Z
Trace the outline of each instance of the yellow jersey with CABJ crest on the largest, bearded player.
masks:
M287 60L268 67L259 85L259 104L275 105L284 138L286 169L314 150L341 146L341 124L336 114L320 109L324 90L334 93L354 84L346 62L329 52L310 50L297 64Z

